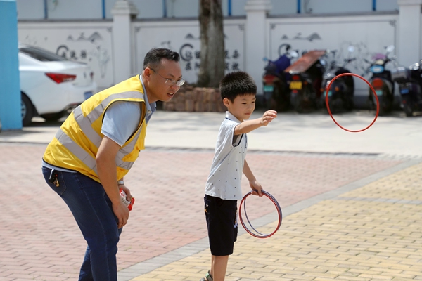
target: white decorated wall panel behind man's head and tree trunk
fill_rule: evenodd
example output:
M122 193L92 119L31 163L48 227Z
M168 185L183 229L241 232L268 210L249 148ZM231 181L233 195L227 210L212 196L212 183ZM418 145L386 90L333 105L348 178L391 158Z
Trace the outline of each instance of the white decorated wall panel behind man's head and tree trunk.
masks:
M180 56L184 79L196 83L200 68L200 30L198 22L172 25L136 25L135 69L143 70L143 58L151 48L170 48ZM245 68L245 26L243 23L224 25L224 58L226 73Z

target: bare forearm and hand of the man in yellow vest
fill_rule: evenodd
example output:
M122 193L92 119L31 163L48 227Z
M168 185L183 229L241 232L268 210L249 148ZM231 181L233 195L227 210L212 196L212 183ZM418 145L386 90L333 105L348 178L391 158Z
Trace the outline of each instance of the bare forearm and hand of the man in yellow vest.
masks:
M116 155L120 145L104 136L96 155L96 166L98 178L101 185L113 204L113 212L117 216L118 228L122 228L129 218L129 209L120 200L119 188L117 186Z

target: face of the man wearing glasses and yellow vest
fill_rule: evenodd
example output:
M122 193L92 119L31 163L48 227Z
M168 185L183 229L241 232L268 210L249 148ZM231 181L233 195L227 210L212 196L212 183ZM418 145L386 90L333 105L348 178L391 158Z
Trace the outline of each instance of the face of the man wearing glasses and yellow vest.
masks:
M177 86L177 84L166 84L167 79L171 79L170 81L181 79L180 65L174 60L162 58L159 67L147 67L145 75L148 77L147 93L150 103L157 100L169 101L180 89L180 86Z

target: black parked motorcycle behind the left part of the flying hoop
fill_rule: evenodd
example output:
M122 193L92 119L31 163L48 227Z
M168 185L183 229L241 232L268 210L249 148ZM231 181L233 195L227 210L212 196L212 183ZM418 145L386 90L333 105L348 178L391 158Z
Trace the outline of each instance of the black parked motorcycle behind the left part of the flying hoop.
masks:
M350 46L347 50L349 53L353 53L354 47ZM327 51L327 53L331 53L333 58L328 64L328 67L326 67L327 70L324 73L324 79L322 81L321 105L323 107L326 106L326 90L331 80L333 80L337 75L350 73L350 70L347 70L345 67L348 63L356 60L356 58L346 58L343 61L343 65L338 65L335 61L336 51ZM354 81L352 76L342 76L335 79L328 90L328 106L330 107L331 113L338 113L343 110L352 110L354 107L353 96Z

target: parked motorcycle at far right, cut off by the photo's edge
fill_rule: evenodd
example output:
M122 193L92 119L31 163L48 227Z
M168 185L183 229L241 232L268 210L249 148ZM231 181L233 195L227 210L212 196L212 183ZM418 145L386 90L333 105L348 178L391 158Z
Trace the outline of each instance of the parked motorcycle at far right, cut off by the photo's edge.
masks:
M402 108L407 117L414 111L422 111L422 60L409 68L397 67L392 70L393 81L399 84Z

